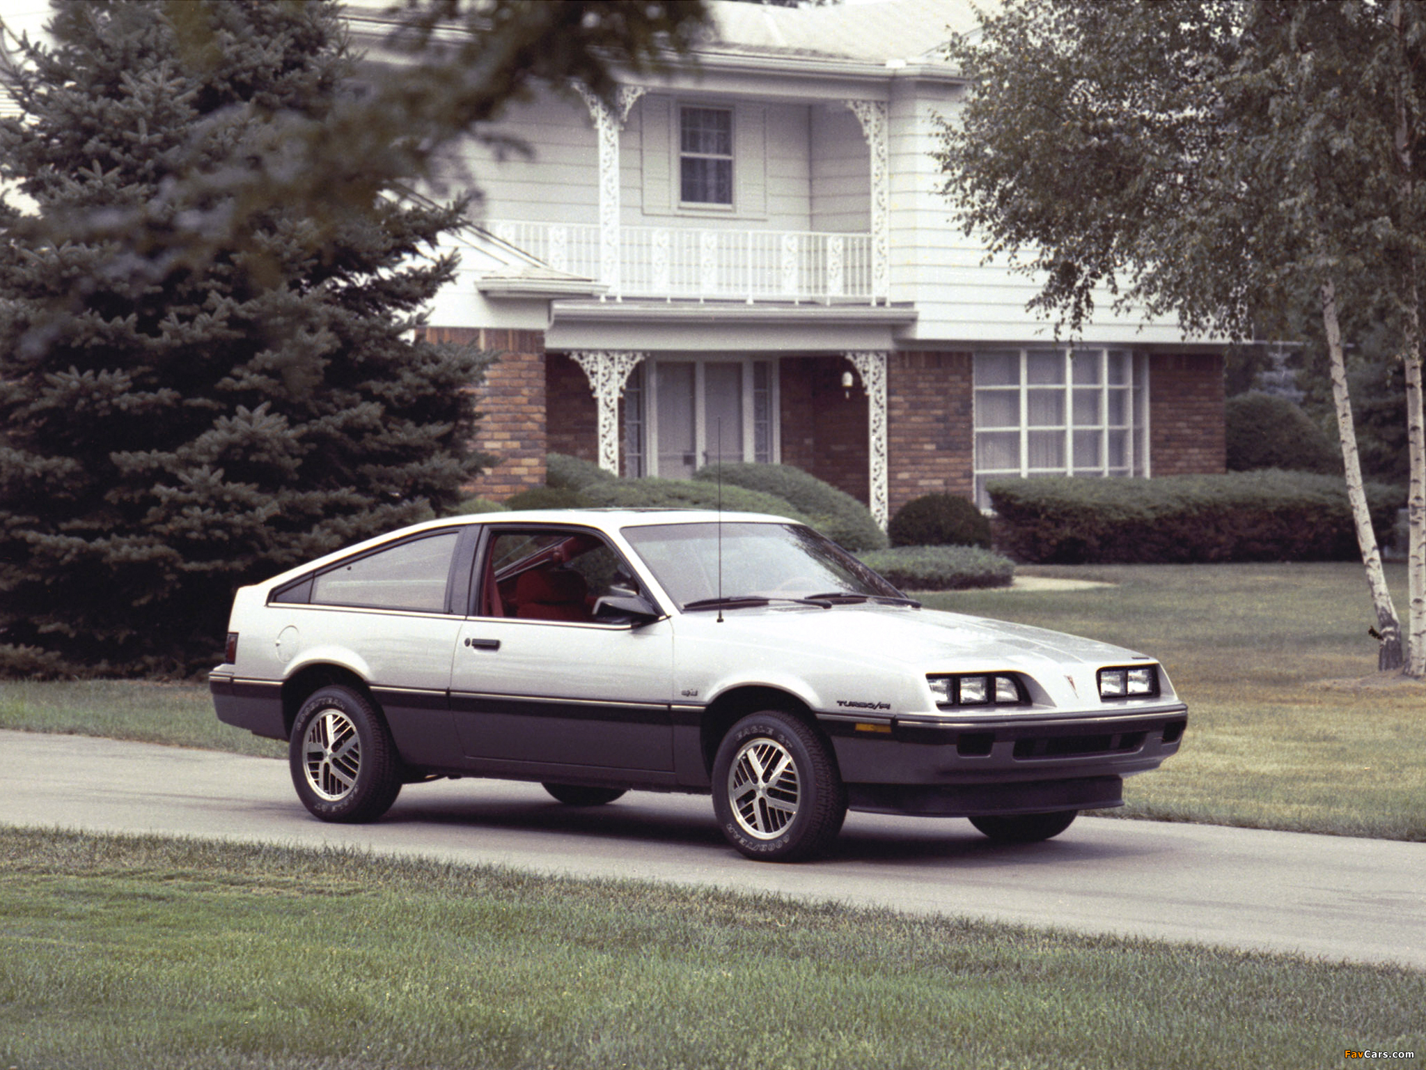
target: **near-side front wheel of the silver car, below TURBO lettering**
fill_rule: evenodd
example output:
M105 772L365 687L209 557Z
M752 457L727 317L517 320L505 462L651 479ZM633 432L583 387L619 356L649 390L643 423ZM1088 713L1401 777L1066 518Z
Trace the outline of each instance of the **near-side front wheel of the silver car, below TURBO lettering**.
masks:
M817 733L791 713L764 710L739 720L719 745L713 812L747 857L794 862L831 846L847 793Z

